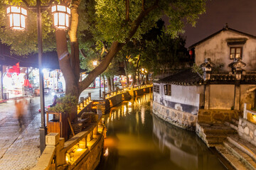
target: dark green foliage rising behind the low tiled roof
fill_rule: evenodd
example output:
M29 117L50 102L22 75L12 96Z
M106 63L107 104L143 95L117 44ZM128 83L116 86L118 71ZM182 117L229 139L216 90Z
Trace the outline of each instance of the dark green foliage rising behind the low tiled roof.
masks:
M141 65L149 72L161 74L177 62L186 59L186 40L181 36L172 38L171 35L161 34L156 40L146 41L146 48L142 52Z

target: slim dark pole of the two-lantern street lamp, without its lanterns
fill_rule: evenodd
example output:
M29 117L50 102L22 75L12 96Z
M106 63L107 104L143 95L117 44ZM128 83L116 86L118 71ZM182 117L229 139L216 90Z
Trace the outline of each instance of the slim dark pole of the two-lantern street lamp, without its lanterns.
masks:
M37 12L37 28L38 28L38 67L39 67L39 82L40 82L40 106L41 106L41 127L40 127L40 150L41 154L46 147L46 113L45 113L45 100L44 100L44 84L43 84L43 41L42 41L42 22L41 22L41 1L36 0Z

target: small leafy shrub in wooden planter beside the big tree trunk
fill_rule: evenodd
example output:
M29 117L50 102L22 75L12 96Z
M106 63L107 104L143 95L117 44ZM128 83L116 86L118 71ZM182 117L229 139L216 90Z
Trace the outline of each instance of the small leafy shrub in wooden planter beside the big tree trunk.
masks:
M78 105L76 96L67 95L57 99L57 104L49 108L48 111L55 113L66 113L69 114L74 106Z

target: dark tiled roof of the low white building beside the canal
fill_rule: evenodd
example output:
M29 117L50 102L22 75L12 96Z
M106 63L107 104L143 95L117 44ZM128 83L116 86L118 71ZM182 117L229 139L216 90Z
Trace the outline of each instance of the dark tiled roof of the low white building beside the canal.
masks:
M203 83L203 79L197 74L191 71L191 69L173 74L164 79L159 79L156 83L166 83L166 84L177 84L183 86L198 85Z

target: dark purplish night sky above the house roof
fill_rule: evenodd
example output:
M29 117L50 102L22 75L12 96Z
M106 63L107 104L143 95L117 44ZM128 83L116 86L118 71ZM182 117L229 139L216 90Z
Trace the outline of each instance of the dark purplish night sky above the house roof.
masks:
M222 29L225 23L256 35L256 0L208 0L206 13L199 16L196 28L185 27L186 47Z

